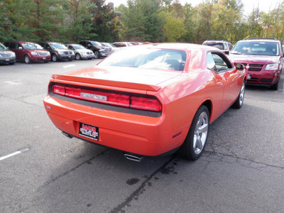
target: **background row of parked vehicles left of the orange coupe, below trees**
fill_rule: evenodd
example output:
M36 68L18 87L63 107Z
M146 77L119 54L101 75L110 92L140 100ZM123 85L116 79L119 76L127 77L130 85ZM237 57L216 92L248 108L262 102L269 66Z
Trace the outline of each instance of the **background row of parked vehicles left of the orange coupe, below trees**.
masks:
M102 58L111 55L121 48L141 43L100 43L94 40L81 40L76 43L58 43L40 41L38 43L27 41L6 41L0 43L0 63L13 65L16 60L26 63L49 62L59 60L81 60Z

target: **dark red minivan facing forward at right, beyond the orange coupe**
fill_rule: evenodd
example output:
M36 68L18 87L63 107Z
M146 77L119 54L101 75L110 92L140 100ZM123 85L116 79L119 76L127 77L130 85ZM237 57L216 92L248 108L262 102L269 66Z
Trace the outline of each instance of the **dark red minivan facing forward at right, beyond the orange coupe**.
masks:
M229 58L234 64L242 63L248 70L247 84L268 85L278 89L283 68L283 49L275 38L249 38L239 40Z

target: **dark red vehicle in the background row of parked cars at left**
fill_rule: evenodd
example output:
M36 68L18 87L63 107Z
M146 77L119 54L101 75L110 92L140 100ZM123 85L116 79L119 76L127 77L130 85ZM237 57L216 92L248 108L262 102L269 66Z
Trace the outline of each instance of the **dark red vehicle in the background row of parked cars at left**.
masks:
M35 61L50 61L50 53L37 43L26 41L6 41L4 45L16 53L16 58L19 61L27 64Z

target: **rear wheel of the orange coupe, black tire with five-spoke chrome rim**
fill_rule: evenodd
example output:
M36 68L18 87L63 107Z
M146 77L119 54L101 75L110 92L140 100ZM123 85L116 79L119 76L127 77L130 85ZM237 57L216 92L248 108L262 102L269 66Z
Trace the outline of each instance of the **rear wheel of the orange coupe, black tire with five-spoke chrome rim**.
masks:
M179 153L182 158L197 160L202 155L207 142L209 131L209 110L202 105L192 119L190 131L180 146Z

